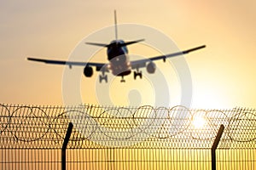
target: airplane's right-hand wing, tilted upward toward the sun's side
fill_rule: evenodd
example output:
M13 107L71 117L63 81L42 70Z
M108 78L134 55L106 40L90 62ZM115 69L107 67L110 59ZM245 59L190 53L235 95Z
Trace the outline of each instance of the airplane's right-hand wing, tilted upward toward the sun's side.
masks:
M199 46L196 48L190 48L190 49L187 49L187 50L184 50L181 52L177 52L177 53L173 53L173 54L160 55L160 56L151 57L148 59L134 60L134 61L131 61L131 69L139 69L139 68L145 67L146 63L148 63L150 61L154 61L154 60L163 59L164 61L166 61L166 58L176 57L177 55L189 54L190 52L201 49L201 48L206 48L206 45L202 45L202 46Z

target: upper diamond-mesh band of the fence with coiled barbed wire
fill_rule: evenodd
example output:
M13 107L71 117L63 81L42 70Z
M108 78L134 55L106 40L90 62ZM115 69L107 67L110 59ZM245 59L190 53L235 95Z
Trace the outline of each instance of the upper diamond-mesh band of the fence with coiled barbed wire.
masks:
M68 149L254 149L256 110L196 110L99 105L0 105L1 149L61 149L69 122Z

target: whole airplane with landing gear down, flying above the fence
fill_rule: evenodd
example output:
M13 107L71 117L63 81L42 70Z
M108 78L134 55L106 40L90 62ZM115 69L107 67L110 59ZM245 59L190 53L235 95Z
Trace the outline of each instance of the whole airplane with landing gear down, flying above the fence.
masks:
M114 10L114 26L115 26L115 40L110 42L109 44L105 43L97 43L97 42L85 42L89 45L100 46L103 48L107 48L108 52L108 63L96 63L96 62L78 62L78 61L65 61L65 60L54 60L54 59L37 59L37 58L30 58L28 60L37 61L37 62L44 62L45 64L53 64L53 65L69 65L72 68L73 65L84 66L84 76L85 77L92 77L93 75L93 68L96 67L96 71L101 71L102 74L99 76L99 81L108 82L108 75L105 72L112 71L113 76L122 77L120 82L125 82L124 77L131 74L132 70L134 71L134 79L136 80L137 77L143 78L142 71L139 71L140 68L146 67L146 70L149 74L154 74L156 70L156 65L154 64L155 60L163 59L166 62L167 58L175 57L178 55L189 54L192 51L206 48L206 45L201 45L196 48L189 48L187 50L173 53L173 54L166 54L160 56L154 56L148 59L138 59L138 60L130 60L128 55L127 46L137 43L143 42L144 39L139 39L136 41L125 42L122 39L118 39L118 27L117 27L117 17L116 11Z

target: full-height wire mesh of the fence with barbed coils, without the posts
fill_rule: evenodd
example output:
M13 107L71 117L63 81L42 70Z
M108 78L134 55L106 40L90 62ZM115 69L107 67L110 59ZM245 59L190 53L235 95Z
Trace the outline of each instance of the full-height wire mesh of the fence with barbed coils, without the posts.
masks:
M61 169L69 122L67 169L209 169L221 124L217 168L256 168L254 109L0 105L0 112L1 169Z

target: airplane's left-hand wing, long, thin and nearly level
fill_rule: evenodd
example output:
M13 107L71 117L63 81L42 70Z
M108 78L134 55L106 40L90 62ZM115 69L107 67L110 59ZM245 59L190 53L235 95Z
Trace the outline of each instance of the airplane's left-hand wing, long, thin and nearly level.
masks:
M27 58L28 60L43 62L45 64L52 65L69 65L72 67L73 65L79 66L96 66L96 71L100 71L104 65L108 65L106 63L93 63L93 62L79 62L79 61L64 61L64 60L52 60L52 59L36 59L36 58Z

